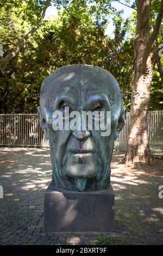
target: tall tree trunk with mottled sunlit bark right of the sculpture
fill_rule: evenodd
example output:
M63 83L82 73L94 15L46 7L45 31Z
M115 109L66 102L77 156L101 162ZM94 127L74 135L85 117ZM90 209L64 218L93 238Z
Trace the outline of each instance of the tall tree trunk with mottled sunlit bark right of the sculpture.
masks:
M158 53L160 44L163 42L161 40L155 46L163 17L163 0L156 2L159 4L159 11L153 25L153 31L151 31L152 10L150 10L152 2L155 1L136 1L135 70L131 95L130 134L124 159L126 164L131 162L152 162L152 155L148 145L148 111L153 70L155 63L160 58Z

